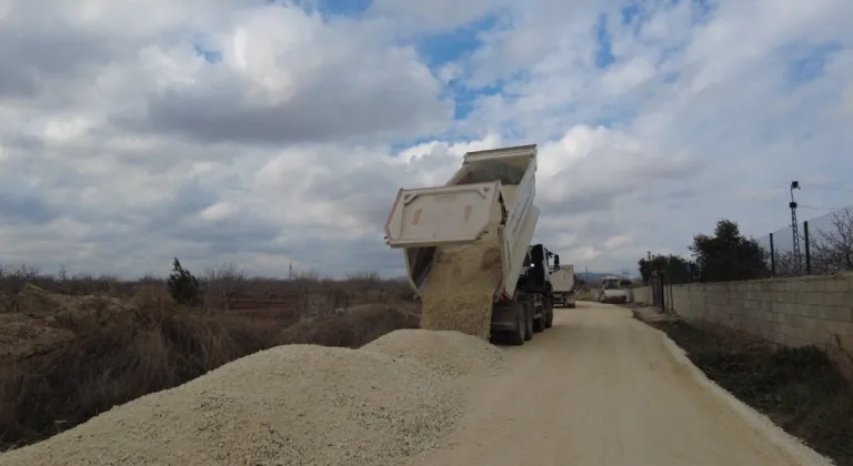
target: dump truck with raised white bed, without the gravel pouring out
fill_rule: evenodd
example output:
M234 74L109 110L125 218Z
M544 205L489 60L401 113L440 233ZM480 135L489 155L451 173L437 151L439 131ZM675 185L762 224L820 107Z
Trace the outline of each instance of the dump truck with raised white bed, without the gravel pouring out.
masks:
M494 277L489 334L512 345L554 317L549 254L531 244L540 215L535 172L535 144L469 152L445 185L401 189L385 222L385 243L403 250L419 295L438 269L436 249L493 241L500 259L484 265Z

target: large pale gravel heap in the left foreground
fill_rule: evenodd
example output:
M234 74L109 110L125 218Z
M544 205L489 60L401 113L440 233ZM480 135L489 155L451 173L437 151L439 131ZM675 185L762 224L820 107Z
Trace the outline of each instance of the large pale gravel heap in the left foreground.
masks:
M464 403L412 356L279 346L0 454L0 465L398 464L434 446Z

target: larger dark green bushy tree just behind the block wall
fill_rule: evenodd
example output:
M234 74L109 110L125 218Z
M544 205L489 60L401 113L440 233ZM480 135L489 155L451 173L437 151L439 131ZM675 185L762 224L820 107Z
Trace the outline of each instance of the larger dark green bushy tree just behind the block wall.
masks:
M770 276L769 253L754 239L741 234L737 223L721 220L714 235L693 236L690 251L702 282L732 282Z

